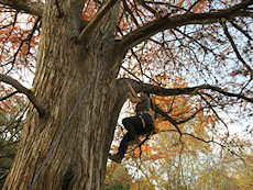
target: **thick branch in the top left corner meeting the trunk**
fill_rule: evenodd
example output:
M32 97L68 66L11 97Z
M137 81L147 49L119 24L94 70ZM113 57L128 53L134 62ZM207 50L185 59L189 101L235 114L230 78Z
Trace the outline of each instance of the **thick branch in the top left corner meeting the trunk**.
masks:
M1 4L11 7L16 11L42 16L44 4L41 2L31 2L28 0L0 0Z

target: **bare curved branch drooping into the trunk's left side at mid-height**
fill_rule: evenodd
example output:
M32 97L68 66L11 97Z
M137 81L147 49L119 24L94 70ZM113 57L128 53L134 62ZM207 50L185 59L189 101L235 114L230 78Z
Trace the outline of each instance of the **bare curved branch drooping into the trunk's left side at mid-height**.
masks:
M45 109L42 107L41 102L37 100L37 98L34 96L34 92L22 86L18 80L7 76L7 75L0 75L0 81L3 81L6 83L9 83L13 86L19 92L24 93L29 100L34 104L34 107L37 109L40 115L45 114Z

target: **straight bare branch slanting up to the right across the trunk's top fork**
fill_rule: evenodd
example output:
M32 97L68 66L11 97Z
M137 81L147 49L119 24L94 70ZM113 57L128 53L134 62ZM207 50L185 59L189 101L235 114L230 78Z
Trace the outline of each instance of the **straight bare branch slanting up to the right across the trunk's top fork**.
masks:
M84 41L85 37L98 25L99 21L110 10L110 8L117 2L117 0L109 0L89 22L89 24L81 31L78 36L79 41Z

